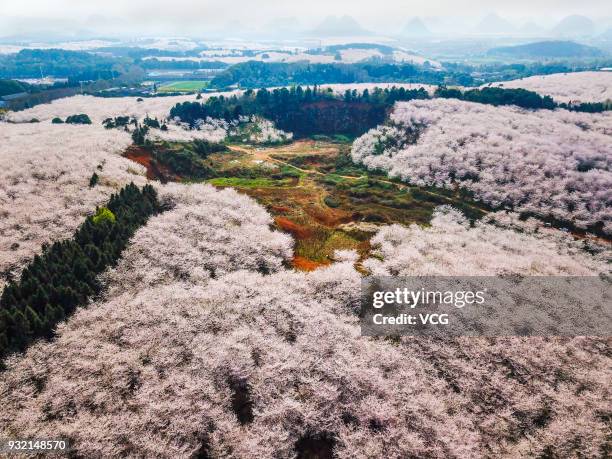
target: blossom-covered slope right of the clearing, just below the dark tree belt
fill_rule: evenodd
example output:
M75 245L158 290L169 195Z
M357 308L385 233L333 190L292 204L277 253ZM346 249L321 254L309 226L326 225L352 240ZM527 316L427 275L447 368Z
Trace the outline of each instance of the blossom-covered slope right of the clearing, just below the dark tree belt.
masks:
M391 120L355 141L354 161L416 185L458 183L492 206L579 228L601 222L612 234L612 113L434 99L398 103Z

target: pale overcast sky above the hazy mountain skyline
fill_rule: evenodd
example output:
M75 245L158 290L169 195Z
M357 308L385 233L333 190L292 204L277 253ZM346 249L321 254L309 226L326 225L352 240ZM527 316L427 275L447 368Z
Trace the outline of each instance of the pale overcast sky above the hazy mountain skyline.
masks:
M307 27L332 14L351 15L379 31L400 27L413 16L469 24L492 12L547 26L570 14L610 18L611 5L610 0L0 0L0 36L58 27L67 33L193 35L223 29L231 21L261 28L282 17L296 17Z

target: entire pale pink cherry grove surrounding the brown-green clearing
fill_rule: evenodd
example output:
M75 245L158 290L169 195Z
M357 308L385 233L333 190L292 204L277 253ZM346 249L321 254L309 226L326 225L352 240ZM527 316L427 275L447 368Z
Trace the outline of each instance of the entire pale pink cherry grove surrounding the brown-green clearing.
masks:
M79 96L10 115L40 123L0 122L0 272L17 274L112 192L146 182L120 156L129 133L103 119L161 119L177 100ZM94 124L50 123L75 113ZM231 127L199 128L152 132L215 139ZM352 155L419 185L461 180L492 205L601 220L610 233L611 140L606 114L430 100L398 104ZM292 238L253 199L152 184L166 210L102 275L103 293L0 371L0 438L66 438L80 457L609 454L609 339L373 339L357 315L363 269L597 276L609 249L515 212L470 223L441 206L427 226L381 226L361 266L342 251L304 273L289 267Z

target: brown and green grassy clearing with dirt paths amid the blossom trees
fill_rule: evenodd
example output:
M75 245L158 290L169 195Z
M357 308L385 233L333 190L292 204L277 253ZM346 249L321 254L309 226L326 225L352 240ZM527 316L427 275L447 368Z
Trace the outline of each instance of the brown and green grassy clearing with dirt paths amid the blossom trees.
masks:
M442 204L453 205L471 219L486 212L460 192L395 183L384 174L367 171L351 162L350 144L343 142L307 140L268 148L230 145L206 158L181 153L193 148L190 143L166 142L152 148L158 156L161 151L194 161L212 175L204 179L208 183L256 199L272 214L275 226L293 236L293 265L301 270L331 263L336 250L356 250L364 259L370 256L370 238L381 225L427 225ZM197 164L147 162L146 152L136 153L133 159L153 176L162 174L160 179L203 180L189 175L198 170ZM172 170L173 165L181 166L181 171Z

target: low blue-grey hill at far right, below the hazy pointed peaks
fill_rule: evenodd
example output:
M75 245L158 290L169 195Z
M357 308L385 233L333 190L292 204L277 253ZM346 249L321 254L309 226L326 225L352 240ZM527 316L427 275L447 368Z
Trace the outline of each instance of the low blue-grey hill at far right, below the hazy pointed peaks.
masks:
M540 41L519 46L504 46L487 51L490 56L506 56L519 59L559 57L601 57L605 53L593 46L573 41Z

